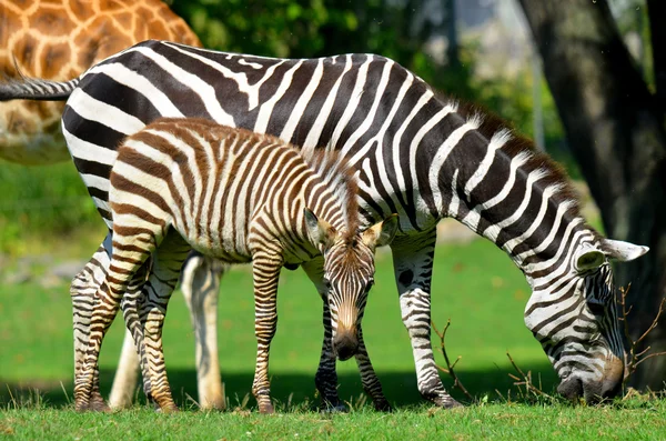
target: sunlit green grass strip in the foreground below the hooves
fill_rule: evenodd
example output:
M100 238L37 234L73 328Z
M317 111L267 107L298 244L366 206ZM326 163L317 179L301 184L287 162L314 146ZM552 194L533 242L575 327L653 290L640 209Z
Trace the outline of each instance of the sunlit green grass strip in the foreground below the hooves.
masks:
M597 408L503 403L454 411L421 405L390 414L363 409L332 415L302 410L164 415L147 408L113 414L43 408L0 414L0 438L20 440L649 440L663 439L665 431L664 401Z

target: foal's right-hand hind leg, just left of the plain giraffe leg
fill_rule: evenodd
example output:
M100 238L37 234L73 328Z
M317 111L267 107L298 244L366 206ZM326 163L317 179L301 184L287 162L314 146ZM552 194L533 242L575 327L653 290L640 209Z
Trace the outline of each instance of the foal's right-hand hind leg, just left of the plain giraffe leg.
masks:
M162 327L169 299L191 250L190 244L176 231L171 230L153 254L153 265L142 290L144 302L141 309L141 323L145 362L150 375L150 399L162 412L178 411L167 378Z

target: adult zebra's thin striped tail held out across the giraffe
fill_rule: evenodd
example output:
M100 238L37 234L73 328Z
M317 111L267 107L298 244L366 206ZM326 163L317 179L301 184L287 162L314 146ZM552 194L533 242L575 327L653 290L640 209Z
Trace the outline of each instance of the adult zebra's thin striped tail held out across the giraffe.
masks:
M51 81L39 78L7 79L0 77L0 101L36 100L64 101L79 86L79 78L69 81Z

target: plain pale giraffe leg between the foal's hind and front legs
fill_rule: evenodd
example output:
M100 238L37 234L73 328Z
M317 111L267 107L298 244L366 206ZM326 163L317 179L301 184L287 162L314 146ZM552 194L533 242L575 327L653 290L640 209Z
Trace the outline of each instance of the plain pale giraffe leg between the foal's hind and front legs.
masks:
M215 259L192 253L181 277L181 290L196 339L196 384L202 409L223 410L226 405L218 354L218 295L226 268Z

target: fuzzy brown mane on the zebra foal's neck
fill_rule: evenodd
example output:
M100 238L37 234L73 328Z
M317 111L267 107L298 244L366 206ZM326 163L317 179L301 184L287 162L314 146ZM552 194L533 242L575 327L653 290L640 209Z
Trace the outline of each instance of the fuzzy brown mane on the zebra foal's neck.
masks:
M299 149L299 153L307 166L323 179L340 202L346 227L344 234L349 239L353 238L360 228L359 202L356 201L359 184L354 176L356 170L337 151Z

